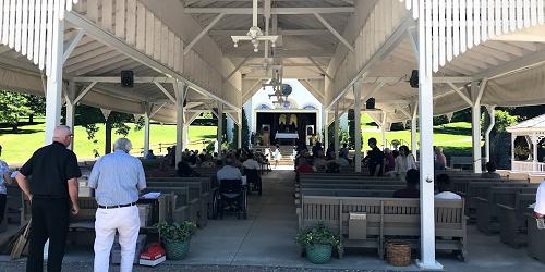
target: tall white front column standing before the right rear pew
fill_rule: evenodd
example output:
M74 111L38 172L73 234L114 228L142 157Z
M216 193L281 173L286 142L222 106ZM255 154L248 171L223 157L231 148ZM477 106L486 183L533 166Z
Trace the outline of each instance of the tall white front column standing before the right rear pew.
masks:
M419 4L419 127L420 127L420 223L421 259L417 265L424 270L443 269L435 260L435 199L434 199L434 102L432 75L432 48L427 41L432 17L432 1Z

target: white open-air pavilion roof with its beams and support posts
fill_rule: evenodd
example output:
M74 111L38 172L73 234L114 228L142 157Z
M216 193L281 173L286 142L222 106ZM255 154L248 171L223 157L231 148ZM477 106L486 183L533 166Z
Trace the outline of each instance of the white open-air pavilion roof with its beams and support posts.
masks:
M419 265L436 269L433 116L472 109L480 173L481 107L545 103L544 23L542 0L4 0L0 86L46 96L46 144L63 103L70 126L84 103L106 115L144 115L146 143L149 120L175 123L177 160L197 114L241 123L244 102L279 74L323 103L324 123L336 126L325 143L336 150L338 116L349 109L355 120L367 111L383 129L411 120L423 207ZM246 36L251 26L263 33ZM121 87L125 70L133 88ZM413 70L419 88L407 82ZM370 98L375 110L362 107Z

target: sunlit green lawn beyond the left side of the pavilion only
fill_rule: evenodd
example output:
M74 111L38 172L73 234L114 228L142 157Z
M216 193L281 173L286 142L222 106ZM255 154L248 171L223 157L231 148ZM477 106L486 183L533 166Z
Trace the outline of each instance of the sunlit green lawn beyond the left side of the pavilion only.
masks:
M129 124L134 127L133 124ZM99 131L95 138L97 143L87 139L87 133L82 126L76 126L74 132L74 152L80 160L92 159L93 149L97 149L100 154L104 154L105 146L105 128L104 124L99 125ZM0 128L0 145L2 145L2 158L8 163L23 163L32 153L44 145L45 124L35 124L21 126L17 133L13 133L11 128ZM198 141L214 140L216 138L216 127L213 126L190 126L190 143L191 149L203 149L204 145ZM121 136L112 135L116 140ZM144 147L144 129L131 129L128 136L133 143L135 154L142 152ZM166 152L166 147L175 143L175 126L152 124L150 129L150 148L156 153L159 153L159 144L162 144L162 152Z

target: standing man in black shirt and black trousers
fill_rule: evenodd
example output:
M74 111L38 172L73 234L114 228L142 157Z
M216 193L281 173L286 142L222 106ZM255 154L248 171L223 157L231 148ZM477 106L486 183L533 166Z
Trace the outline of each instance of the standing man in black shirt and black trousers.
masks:
M70 213L77 214L77 178L82 176L68 126L58 126L53 144L34 152L15 177L31 200L32 223L26 271L43 271L44 245L49 239L47 271L61 271ZM32 176L29 181L27 176Z

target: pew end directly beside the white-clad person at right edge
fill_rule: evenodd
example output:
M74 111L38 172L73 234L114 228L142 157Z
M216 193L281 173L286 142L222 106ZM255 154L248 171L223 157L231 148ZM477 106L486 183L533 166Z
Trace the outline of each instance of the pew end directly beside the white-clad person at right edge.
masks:
M526 244L526 218L525 213L531 213L528 208L535 202L534 194L518 194L512 206L497 205L499 238L504 244L519 248Z

